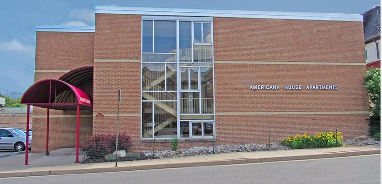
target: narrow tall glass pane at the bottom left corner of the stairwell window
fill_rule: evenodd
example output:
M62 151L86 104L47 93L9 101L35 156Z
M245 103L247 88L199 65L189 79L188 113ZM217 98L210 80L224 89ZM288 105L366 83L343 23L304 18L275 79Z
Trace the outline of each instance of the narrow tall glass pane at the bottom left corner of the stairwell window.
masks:
M152 102L142 102L142 138L152 138Z

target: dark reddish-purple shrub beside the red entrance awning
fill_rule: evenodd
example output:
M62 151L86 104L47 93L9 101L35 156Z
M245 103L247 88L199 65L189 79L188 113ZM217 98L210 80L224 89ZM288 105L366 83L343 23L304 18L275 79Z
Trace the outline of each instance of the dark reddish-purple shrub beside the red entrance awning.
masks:
M88 157L104 158L107 154L113 153L116 147L117 137L111 134L93 135L81 149ZM121 133L118 136L118 150L126 150L131 146L130 136Z

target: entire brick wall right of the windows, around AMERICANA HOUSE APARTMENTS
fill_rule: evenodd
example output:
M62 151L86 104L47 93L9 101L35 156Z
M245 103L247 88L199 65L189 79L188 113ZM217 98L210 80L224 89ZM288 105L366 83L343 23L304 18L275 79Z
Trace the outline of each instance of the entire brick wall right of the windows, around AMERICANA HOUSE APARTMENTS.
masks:
M364 63L362 22L213 20L218 143L266 143L268 130L271 142L296 133L336 128L345 138L368 135L368 114L357 114L368 111L363 81L365 67L306 64ZM240 61L247 63L239 64ZM305 63L252 64L251 61ZM250 90L250 85L257 84L279 85L280 90ZM284 85L297 84L302 85L301 90L284 90ZM306 85L312 84L335 84L339 89L306 90ZM304 114L328 111L340 114ZM277 113L269 115L271 112ZM284 115L288 112L297 115Z

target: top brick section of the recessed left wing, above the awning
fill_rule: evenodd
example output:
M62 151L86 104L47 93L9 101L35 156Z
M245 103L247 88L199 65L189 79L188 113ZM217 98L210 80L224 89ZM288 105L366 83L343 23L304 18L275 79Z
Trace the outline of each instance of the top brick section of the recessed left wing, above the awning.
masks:
M72 70L93 61L94 33L36 33L35 70Z

